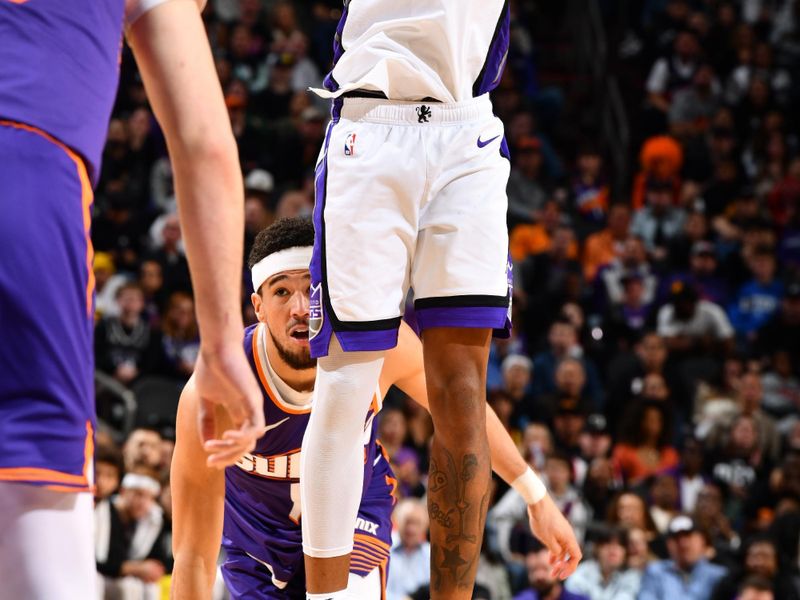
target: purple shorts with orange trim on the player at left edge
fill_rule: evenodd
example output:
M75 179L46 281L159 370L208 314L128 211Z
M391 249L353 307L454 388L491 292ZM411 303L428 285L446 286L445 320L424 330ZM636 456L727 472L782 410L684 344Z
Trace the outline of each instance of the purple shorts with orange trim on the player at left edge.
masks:
M0 182L0 480L85 487L94 422L88 177L57 143L0 125Z

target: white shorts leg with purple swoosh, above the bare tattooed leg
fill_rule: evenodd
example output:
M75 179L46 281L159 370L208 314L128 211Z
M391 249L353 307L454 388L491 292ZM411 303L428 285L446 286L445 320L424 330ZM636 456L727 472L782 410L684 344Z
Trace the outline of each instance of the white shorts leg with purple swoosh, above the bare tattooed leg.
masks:
M420 214L411 285L420 325L502 328L508 306L502 123L491 118L443 132L442 165ZM477 141L492 140L478 146Z

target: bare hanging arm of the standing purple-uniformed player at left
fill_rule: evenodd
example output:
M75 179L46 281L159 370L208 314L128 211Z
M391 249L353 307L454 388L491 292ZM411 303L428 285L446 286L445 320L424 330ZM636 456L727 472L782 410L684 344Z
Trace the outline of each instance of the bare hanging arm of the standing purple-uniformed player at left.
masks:
M195 0L160 3L126 33L172 161L201 333L201 433L208 439L214 429L213 404L227 409L236 428L224 444L206 448L210 464L226 466L252 450L264 427L241 344L244 193L236 142Z

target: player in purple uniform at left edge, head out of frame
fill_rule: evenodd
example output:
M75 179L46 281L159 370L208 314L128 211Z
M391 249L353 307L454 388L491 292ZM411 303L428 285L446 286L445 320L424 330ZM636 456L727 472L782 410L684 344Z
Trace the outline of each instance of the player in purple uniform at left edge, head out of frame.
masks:
M203 408L232 464L263 428L241 349L236 146L194 0L0 0L0 581L5 598L95 595L92 185L122 30L170 150L202 348ZM212 420L206 418L206 431Z

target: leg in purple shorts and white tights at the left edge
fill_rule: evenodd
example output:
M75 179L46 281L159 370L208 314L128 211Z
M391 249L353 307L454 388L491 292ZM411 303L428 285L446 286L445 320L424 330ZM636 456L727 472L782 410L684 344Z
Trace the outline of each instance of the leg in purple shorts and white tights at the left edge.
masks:
M91 187L10 123L0 181L0 577L9 597L93 598Z

